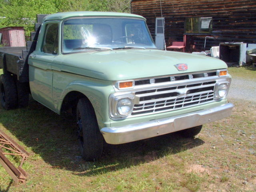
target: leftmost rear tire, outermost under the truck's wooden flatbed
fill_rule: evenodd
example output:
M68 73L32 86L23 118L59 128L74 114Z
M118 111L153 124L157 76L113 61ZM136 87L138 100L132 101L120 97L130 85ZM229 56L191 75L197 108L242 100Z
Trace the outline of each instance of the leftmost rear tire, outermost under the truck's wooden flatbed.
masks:
M0 76L0 102L7 110L16 108L18 104L16 84L9 74Z

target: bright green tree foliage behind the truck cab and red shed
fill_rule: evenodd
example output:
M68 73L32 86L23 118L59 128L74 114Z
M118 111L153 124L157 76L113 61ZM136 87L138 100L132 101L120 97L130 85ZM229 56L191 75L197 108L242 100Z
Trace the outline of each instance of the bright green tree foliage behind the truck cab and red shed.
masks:
M36 14L67 11L130 12L130 0L0 0L0 28L23 26L28 39Z

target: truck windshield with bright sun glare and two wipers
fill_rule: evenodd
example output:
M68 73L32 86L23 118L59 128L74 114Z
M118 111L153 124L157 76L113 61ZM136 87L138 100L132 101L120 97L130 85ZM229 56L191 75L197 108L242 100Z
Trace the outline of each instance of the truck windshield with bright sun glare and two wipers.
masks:
M72 18L64 21L63 53L127 48L156 48L144 20Z

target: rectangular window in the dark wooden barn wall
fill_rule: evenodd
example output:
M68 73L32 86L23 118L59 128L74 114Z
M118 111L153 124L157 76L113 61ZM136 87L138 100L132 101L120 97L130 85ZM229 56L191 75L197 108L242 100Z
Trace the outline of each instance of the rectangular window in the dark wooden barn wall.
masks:
M185 19L185 33L210 34L212 32L212 17L192 17Z

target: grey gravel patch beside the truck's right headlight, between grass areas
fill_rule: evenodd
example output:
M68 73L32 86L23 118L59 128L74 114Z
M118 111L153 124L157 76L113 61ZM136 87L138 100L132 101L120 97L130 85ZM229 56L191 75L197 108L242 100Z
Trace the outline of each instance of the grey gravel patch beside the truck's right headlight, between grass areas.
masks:
M232 76L228 98L256 102L256 80Z

